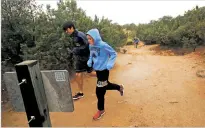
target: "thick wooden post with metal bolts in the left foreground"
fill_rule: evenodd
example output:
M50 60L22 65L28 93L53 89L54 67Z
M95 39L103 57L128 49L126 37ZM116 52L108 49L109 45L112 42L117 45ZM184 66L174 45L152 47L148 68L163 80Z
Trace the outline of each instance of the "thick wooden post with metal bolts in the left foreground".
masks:
M51 127L48 104L38 61L15 65L30 127Z

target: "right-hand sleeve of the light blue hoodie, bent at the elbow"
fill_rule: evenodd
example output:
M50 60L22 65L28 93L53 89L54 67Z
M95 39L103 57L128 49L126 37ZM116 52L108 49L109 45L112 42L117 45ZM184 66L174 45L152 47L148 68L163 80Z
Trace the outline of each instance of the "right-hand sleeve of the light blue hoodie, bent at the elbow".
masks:
M108 52L110 58L107 64L107 69L110 70L113 68L114 64L115 64L115 60L117 57L117 53L115 52L115 50L108 44L105 44L105 50Z

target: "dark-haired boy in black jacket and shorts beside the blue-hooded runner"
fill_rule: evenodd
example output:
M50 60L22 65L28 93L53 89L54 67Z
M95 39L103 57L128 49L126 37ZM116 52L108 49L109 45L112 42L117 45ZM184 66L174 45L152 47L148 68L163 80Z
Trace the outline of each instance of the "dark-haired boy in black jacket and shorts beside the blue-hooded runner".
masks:
M78 100L84 96L83 94L83 72L92 72L92 68L87 66L90 51L86 35L83 32L76 30L75 25L68 21L63 24L63 30L71 36L72 40L72 53L75 62L76 82L78 84L79 92L73 96L74 100ZM91 74L95 76L94 73Z

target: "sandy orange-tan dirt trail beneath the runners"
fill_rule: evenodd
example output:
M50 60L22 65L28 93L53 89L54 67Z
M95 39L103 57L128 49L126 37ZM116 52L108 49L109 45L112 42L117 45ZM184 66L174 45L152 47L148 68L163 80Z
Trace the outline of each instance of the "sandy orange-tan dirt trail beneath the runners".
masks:
M52 126L205 126L205 64L195 54L160 56L145 46L118 54L110 81L123 83L125 95L108 91L106 114L96 112L96 78L85 79L85 97L73 113L50 113ZM73 92L77 85L72 84ZM28 126L25 113L3 112L2 126Z

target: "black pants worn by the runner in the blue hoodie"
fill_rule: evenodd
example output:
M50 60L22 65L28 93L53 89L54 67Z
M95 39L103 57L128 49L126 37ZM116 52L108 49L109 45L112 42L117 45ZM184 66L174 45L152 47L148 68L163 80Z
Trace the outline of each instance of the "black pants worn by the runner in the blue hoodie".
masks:
M105 103L105 93L106 90L120 90L120 86L114 83L109 82L109 70L96 71L97 75L97 86L96 86L96 95L98 98L97 107L98 110L104 110ZM107 83L107 84L106 84ZM99 87L98 85L105 85L103 87Z

